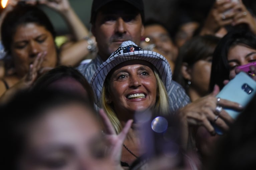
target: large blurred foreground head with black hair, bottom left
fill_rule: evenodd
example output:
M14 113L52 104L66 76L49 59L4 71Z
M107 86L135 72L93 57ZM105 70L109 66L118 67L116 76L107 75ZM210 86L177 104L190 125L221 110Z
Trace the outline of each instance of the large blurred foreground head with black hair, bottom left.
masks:
M108 168L100 124L88 99L57 91L23 91L1 106L4 169Z

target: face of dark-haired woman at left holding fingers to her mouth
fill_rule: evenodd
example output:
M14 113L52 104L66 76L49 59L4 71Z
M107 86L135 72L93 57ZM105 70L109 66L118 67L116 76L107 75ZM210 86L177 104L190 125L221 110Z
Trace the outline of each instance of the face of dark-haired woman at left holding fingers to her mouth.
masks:
M33 64L40 52L46 52L42 67L56 66L57 51L51 33L35 23L18 26L13 35L11 55L19 76L24 76L29 71L29 65Z

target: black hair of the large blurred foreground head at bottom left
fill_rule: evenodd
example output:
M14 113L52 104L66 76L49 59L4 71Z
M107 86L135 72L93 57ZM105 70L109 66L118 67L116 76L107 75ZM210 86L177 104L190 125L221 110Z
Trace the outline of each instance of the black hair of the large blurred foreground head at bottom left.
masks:
M94 113L93 108L88 105L87 98L55 90L20 91L8 103L0 106L1 129L4 136L3 169L20 169L17 161L24 153L28 123L39 119L50 109L72 103L81 104Z

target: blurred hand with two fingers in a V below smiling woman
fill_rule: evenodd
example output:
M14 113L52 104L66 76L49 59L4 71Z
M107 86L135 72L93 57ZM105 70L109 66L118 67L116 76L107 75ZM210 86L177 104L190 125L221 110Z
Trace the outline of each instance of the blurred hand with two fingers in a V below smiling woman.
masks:
M119 134L116 134L115 129L113 128L105 112L102 109L100 109L99 114L105 126L105 130L104 130L105 140L108 144L107 150L108 150L108 155L110 157L110 160L113 161L113 164L115 165L115 167L121 168L120 159L121 159L123 141L129 129L131 128L133 120L127 121L122 131Z

